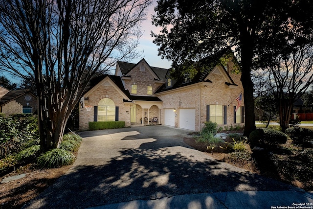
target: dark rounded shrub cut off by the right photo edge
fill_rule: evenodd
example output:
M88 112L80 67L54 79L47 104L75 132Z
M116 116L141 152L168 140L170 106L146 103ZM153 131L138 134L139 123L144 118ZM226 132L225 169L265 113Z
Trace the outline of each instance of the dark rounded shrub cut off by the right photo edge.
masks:
M313 130L308 128L290 127L286 129L286 134L292 139L293 143L298 145L313 140Z

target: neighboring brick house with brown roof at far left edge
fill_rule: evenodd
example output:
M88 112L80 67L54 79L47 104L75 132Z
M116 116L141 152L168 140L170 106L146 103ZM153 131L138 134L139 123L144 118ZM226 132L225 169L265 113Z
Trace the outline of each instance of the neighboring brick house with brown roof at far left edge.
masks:
M0 94L3 88L0 88ZM37 97L30 90L12 90L0 97L0 112L5 116L20 113L35 113Z

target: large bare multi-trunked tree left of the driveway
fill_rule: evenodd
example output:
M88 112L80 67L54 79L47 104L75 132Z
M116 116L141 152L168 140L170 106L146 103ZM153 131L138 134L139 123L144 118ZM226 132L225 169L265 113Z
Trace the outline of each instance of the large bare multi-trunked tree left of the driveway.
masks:
M0 0L0 66L35 81L41 150L59 148L92 75L136 56L151 0Z

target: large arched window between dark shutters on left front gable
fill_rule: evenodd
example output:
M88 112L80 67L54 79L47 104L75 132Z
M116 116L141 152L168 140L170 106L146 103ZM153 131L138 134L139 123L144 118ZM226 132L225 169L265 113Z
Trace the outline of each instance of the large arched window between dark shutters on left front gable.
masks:
M110 98L103 98L98 103L98 121L115 121L115 104Z

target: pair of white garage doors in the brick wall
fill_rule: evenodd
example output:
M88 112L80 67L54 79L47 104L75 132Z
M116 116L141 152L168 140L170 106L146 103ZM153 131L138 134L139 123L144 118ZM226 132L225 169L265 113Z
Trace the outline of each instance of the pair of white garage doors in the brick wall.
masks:
M164 124L175 127L175 114L178 116L179 128L195 130L196 111L194 108L179 109L178 112L174 112L174 109L165 109Z

